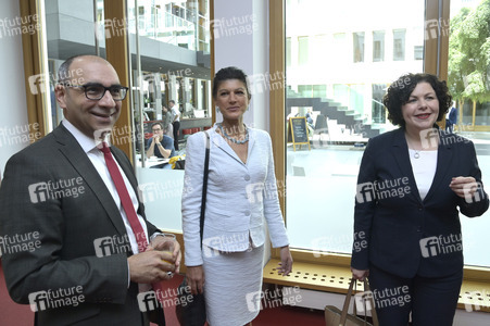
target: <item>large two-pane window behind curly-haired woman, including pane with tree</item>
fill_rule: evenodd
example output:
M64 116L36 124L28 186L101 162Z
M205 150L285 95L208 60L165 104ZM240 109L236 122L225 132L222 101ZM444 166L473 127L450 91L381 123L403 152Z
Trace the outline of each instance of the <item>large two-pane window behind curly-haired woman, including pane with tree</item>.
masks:
M431 64L425 59L443 59L440 48L425 46L448 35L448 85L457 109L454 130L474 141L488 188L490 52L481 49L488 48L490 1L452 0L451 20L425 16L426 3L436 5L437 1L309 3L315 11L298 0L287 1L286 7L286 37L290 40L286 49L287 98L294 101L286 101L285 116L303 116L311 109L314 120L311 150L294 151L291 142L286 147L286 218L291 246L318 254L351 252L355 186L364 145L394 128L382 105L386 89L407 72L424 72L424 65ZM305 15L315 24L301 20ZM312 57L304 57L301 64L289 60L299 55L298 41L291 37L299 30L310 40L323 35L326 47L335 49L324 53L323 64ZM445 63L441 66L443 70ZM490 266L490 259L481 251L490 247L490 238L485 235L489 217L490 212L479 218L461 217L467 265Z

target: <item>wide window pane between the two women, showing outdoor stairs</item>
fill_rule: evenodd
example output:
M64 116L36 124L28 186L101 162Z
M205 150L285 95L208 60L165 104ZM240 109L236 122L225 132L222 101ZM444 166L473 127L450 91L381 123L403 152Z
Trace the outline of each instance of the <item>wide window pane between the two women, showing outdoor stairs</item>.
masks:
M312 148L287 147L288 231L292 247L350 253L363 155L356 145L393 128L381 104L386 88L406 72L423 71L412 51L424 49L425 7L404 0L301 3L286 5L286 116L312 110Z

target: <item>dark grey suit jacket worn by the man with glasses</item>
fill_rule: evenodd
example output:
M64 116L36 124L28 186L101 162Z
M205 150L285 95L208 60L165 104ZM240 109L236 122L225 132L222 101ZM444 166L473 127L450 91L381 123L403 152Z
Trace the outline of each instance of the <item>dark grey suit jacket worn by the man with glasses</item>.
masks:
M138 193L129 160L117 148L111 147L111 151ZM47 199L46 192L39 191L40 183L50 183L52 189L62 188L63 192ZM38 325L146 323L138 306L138 285L128 287L129 242L112 254L99 251L102 256L98 256L98 239L127 239L121 213L87 154L63 125L9 160L0 188L0 234L13 241L2 248L12 299L27 304L34 292L59 289L83 296L76 306L40 308ZM138 213L145 217L141 203ZM150 235L158 230L149 222L147 226ZM15 247L18 242L21 247Z

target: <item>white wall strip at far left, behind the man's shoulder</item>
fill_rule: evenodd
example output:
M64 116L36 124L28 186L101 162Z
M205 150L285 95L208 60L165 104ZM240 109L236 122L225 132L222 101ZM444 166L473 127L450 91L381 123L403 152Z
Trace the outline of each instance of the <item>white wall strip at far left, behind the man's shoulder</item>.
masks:
M18 1L0 1L2 21L20 17ZM5 163L29 142L24 141L28 127L24 85L24 63L21 35L8 27L0 27L0 171Z

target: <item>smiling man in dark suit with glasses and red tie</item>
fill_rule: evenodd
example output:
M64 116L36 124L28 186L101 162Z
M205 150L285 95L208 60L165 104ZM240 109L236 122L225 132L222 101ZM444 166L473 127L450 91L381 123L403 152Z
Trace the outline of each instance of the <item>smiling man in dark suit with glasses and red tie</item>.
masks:
M0 188L10 296L30 304L37 325L148 325L141 312L153 308L138 293L178 273L180 248L146 220L130 162L111 147L106 155L115 158L134 206L128 212L98 148L96 138L114 126L127 88L93 55L68 59L59 77L65 120L9 160ZM161 251L167 244L172 253Z

